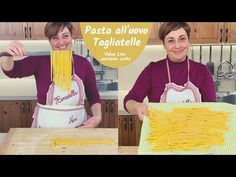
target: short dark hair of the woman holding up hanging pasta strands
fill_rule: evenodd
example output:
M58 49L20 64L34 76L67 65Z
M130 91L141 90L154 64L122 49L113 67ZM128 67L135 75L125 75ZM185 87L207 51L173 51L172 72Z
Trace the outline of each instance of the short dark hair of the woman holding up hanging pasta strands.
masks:
M44 28L44 34L50 40L53 36L56 36L57 33L65 27L68 28L70 34L72 35L74 28L70 22L48 22Z

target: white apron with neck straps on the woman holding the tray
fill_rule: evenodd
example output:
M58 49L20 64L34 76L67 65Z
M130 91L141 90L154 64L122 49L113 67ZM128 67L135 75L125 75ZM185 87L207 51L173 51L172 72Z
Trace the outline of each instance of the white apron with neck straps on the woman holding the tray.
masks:
M160 102L181 102L181 103L191 103L191 102L201 102L201 94L199 89L189 80L189 60L187 59L188 65L188 81L184 86L176 85L171 82L170 68L168 60L166 59L167 73L169 83L165 85L163 94L161 95ZM178 77L178 76L176 76Z

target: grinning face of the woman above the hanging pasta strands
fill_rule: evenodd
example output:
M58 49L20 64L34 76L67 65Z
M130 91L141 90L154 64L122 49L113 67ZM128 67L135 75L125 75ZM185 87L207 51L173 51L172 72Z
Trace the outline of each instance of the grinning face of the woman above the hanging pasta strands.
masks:
M71 50L72 37L67 27L61 29L56 36L53 36L49 43L53 50Z

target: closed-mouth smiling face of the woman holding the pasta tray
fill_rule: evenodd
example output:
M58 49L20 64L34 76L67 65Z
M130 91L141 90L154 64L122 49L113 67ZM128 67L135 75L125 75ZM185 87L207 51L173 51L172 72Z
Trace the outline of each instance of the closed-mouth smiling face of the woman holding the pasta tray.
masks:
M189 50L188 35L184 28L179 28L167 34L164 39L164 48L171 61L184 61Z

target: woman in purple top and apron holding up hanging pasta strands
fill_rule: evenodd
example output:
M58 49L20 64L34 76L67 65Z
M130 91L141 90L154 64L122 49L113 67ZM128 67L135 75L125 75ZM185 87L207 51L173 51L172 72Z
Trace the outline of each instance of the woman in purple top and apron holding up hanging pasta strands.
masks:
M69 73L69 82L67 82L69 90L63 90L57 85L55 80L52 80L51 77L57 75L52 69L54 67L53 62L50 62L50 57L52 56L27 56L21 60L14 61L12 56L27 55L25 47L19 41L10 43L6 52L11 57L2 59L1 63L4 73L11 78L34 75L36 79L38 103L33 115L32 127L98 126L102 117L95 74L86 58L72 53L72 24L69 22L48 22L44 32L49 40L52 52L67 51L69 54L64 55L67 54L64 53L61 55L64 58L69 56L68 60L66 60L68 62L65 63L71 63L70 66L65 67L67 74ZM55 57L55 59L58 58ZM93 114L90 118L84 108L85 96Z

